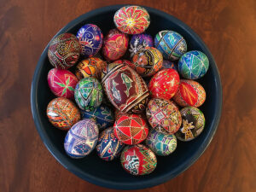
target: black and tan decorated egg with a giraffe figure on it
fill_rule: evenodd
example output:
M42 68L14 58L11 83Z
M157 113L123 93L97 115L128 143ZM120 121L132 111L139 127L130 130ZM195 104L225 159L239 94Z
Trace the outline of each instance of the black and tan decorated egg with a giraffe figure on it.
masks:
M183 123L175 133L178 140L188 142L201 134L205 127L205 116L200 109L194 107L183 108L180 111Z

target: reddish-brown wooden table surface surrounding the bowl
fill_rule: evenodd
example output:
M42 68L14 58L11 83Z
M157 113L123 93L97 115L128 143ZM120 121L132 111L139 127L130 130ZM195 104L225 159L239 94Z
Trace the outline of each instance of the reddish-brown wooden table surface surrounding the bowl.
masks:
M67 22L92 9L137 3L191 26L212 51L223 113L207 151L152 192L256 191L256 2L254 0L0 0L0 191L113 191L68 172L44 147L30 90L39 56Z

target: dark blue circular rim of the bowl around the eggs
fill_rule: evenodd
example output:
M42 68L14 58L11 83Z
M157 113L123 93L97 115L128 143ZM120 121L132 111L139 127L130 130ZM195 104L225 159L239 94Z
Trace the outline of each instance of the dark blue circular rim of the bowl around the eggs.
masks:
M91 10L90 12L87 12L84 15L80 15L78 18L70 21L67 24L67 26L64 26L63 28L61 28L61 30L59 32L57 32L53 38L55 38L57 35L59 35L63 32L67 32L69 29L73 28L73 26L77 25L77 23L82 22L84 19L86 19L88 17L91 17L93 15L101 15L108 11L118 10L121 7L128 6L128 5L129 4L117 4L117 5L110 5L110 6L102 7L99 9ZM207 48L207 45L189 26L187 26L183 21L178 20L176 17L169 15L166 12L159 10L159 9L154 9L154 8L150 8L150 7L146 7L146 6L142 6L142 5L138 5L138 6L141 6L145 9L147 9L148 12L152 12L155 15L160 15L163 18L170 19L170 17L171 17L172 20L174 20L176 22L177 26L183 28L183 30L190 33L189 35L193 36L195 38L195 40L197 42L199 42L199 44L201 44L201 47L203 49L207 50L208 55L210 55L210 57L212 59L211 67L212 67L213 73L216 75L215 84L217 84L217 88L219 90L218 96L217 96L217 103L218 103L217 114L213 117L212 124L209 125L211 130L207 134L206 139L201 144L201 147L195 152L195 154L190 159L184 161L182 165L177 166L171 173L168 172L166 174L160 175L159 177L154 177L154 179L148 179L147 181L141 181L140 183L134 184L134 183L122 183L122 182L113 182L113 181L109 181L109 180L104 180L102 178L94 177L85 172L81 172L81 170L79 170L78 167L73 166L73 164L70 164L67 160L65 160L65 158L63 158L64 154L61 154L61 152L58 151L57 148L55 148L55 146L50 142L46 131L44 131L44 129L41 128L41 127L43 127L43 124L42 124L42 121L41 121L39 113L38 113L38 104L37 104L38 103L37 84L38 84L38 80L39 80L38 73L41 71L42 67L44 66L44 58L45 58L45 56L47 57L47 51L48 51L49 44L50 44L50 42L49 42L49 44L47 44L47 46L44 48L42 55L40 55L37 67L35 69L35 73L32 78L31 108L32 108L32 117L34 119L34 124L36 125L38 133L39 133L45 147L48 148L49 152L55 157L55 159L62 166L64 166L68 171L73 172L73 174L75 174L76 176L78 176L90 183L94 183L96 185L110 188L110 189L145 189L145 188L153 187L160 183L165 183L165 182L169 181L170 179L172 179L173 177L177 177L179 174L186 171L189 168L189 166L192 166L195 163L195 161L198 160L198 158L201 156L201 154L204 153L204 151L207 149L208 145L211 143L212 137L214 136L214 134L218 128L218 123L219 123L221 111L222 111L222 100L223 99L222 99L221 79L220 79L220 75L218 72L218 67L216 65L216 62L214 61L214 58L213 58L210 50Z

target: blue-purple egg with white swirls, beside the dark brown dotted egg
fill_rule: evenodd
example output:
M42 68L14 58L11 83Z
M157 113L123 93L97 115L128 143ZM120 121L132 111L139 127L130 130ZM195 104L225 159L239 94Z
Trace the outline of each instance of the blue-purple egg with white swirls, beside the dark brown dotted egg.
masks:
M81 44L81 54L86 57L96 55L102 48L102 30L96 25L86 24L82 26L77 33L77 38Z

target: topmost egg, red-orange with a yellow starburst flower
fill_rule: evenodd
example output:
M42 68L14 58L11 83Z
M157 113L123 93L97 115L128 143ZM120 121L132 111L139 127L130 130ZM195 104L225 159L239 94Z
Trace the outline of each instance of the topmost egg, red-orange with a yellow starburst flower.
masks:
M140 6L125 6L115 12L113 22L121 32L138 34L148 28L150 17L148 11Z

